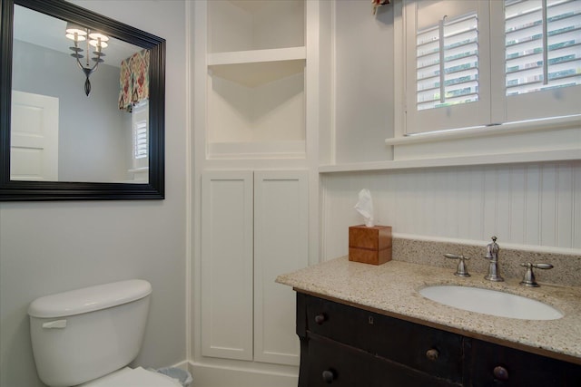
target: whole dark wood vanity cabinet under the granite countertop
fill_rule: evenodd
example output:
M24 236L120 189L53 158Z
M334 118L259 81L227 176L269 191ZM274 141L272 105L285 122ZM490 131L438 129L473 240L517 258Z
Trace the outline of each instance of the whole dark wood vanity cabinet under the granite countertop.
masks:
M581 386L581 365L297 294L299 387Z

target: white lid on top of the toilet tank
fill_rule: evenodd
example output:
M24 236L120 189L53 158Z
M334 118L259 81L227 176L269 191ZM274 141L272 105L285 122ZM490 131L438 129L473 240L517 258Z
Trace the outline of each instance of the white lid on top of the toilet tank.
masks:
M152 285L143 279L94 285L37 298L28 307L28 314L41 318L84 314L127 304L151 293Z

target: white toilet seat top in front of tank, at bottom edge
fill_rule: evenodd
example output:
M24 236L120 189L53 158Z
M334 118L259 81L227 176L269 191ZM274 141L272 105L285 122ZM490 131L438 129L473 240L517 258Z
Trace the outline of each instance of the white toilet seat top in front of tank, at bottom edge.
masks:
M125 367L79 387L182 387L182 384L162 373L142 367Z

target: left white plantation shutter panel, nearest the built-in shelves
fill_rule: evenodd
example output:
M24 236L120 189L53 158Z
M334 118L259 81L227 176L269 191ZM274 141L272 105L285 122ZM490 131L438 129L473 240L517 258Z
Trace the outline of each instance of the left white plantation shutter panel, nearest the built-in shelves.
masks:
M406 134L487 124L487 2L424 0L404 6Z

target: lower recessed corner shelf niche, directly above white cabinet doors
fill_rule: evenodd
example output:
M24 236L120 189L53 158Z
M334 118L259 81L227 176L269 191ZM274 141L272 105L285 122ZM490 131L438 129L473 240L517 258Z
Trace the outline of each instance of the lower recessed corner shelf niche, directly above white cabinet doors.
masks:
M211 70L208 83L210 158L236 153L304 155L304 73L250 87L212 75Z

